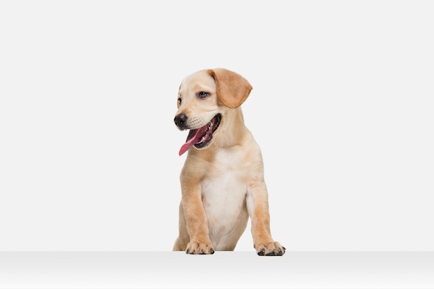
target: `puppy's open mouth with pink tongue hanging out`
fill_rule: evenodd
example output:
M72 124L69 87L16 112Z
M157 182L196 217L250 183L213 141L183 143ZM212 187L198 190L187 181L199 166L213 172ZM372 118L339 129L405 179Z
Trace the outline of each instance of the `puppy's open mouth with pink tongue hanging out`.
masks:
M220 125L221 114L216 114L209 123L196 130L190 130L184 145L180 149L180 155L189 150L192 146L196 148L205 148L208 146L209 141L212 139L212 134L217 130Z

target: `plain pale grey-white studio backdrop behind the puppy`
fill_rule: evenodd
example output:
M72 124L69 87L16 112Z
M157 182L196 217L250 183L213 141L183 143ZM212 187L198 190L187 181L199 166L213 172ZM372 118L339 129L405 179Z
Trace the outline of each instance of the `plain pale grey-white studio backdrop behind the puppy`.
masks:
M0 250L171 250L177 89L253 86L288 250L434 250L431 1L1 1ZM253 250L250 224L236 250Z

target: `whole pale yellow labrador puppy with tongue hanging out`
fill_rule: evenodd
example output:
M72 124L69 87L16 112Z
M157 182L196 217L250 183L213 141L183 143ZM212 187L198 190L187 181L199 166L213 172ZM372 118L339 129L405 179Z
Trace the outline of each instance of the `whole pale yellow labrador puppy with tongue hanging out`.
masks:
M189 134L179 152L188 155L174 251L232 251L250 217L257 254L285 253L271 237L261 150L240 107L251 90L248 80L227 69L197 71L182 80L174 121Z

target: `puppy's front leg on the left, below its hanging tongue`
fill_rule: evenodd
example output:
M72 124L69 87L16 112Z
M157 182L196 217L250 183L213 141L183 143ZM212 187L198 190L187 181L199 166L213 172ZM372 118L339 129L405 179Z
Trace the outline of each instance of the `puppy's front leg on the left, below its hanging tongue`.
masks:
M198 182L189 179L181 182L182 207L186 229L190 241L186 246L187 254L214 254L214 247L209 238L207 214L202 204L202 192Z

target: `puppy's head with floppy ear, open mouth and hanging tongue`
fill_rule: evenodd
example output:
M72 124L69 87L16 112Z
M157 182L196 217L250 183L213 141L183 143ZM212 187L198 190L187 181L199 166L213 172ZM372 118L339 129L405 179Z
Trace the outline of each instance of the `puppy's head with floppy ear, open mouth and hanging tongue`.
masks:
M197 71L182 80L177 97L175 125L190 130L180 155L195 148L207 148L228 110L248 98L252 86L238 73L227 69Z

